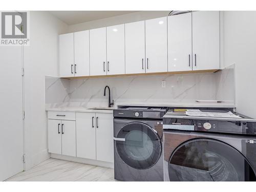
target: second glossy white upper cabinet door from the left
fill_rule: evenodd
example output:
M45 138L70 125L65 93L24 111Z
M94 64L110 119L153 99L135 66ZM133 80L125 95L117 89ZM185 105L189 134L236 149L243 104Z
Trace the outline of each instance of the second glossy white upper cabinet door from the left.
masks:
M75 76L90 75L90 44L89 30L74 33L74 74Z

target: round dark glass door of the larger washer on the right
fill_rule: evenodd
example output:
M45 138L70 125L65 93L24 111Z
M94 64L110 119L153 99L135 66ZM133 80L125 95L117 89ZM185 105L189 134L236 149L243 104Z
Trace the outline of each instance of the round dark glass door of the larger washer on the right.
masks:
M245 157L215 139L193 139L170 156L170 181L254 181L255 173Z

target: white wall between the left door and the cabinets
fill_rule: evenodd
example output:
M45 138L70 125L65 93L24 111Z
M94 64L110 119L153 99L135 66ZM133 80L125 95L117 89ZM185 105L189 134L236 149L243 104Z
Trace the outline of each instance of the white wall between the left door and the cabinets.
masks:
M49 158L45 75L58 75L58 35L67 29L48 12L30 12L30 46L24 47L26 169Z

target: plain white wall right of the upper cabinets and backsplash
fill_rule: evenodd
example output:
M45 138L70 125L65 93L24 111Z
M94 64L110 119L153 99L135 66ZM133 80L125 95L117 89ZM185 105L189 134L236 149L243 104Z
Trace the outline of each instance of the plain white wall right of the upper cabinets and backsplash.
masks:
M237 111L256 118L256 11L224 12L224 64L236 63Z

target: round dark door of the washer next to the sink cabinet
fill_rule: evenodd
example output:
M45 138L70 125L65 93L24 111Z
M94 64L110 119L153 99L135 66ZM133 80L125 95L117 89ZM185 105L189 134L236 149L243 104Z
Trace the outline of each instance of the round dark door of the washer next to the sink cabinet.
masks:
M125 141L116 141L118 155L133 168L150 168L161 156L161 140L157 132L145 123L127 123L117 137L125 138Z

